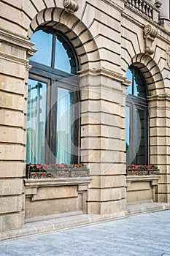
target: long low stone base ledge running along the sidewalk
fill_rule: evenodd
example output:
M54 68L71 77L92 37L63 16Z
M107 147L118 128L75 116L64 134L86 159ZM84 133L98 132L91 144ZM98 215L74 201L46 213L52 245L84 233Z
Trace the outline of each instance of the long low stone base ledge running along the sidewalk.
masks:
M149 207L150 206L150 207ZM151 207L152 206L152 207ZM40 233L51 233L59 230L65 230L72 227L81 227L84 225L93 225L97 222L106 222L111 219L120 219L128 217L129 214L139 214L152 211L163 211L170 208L170 203L148 203L140 202L137 205L128 206L127 211L120 211L115 214L81 214L81 212L72 212L68 214L54 215L50 217L27 219L26 224L19 230L12 230L0 234L0 241L23 238L24 236L34 236ZM139 211L140 209L140 211ZM131 211L130 211L131 210ZM126 215L125 215L126 214Z

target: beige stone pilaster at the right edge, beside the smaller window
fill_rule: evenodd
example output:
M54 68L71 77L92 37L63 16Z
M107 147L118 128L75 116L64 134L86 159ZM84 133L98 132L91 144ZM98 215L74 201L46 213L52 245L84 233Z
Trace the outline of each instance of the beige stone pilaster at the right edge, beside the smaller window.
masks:
M169 203L170 197L170 95L148 98L150 104L150 163L158 165L158 202Z

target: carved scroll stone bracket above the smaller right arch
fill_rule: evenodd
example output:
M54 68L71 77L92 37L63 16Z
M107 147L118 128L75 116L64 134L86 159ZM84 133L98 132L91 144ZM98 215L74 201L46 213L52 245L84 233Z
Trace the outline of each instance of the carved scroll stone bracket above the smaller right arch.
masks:
M158 29L155 29L151 25L144 26L144 53L152 54L152 42L158 34Z

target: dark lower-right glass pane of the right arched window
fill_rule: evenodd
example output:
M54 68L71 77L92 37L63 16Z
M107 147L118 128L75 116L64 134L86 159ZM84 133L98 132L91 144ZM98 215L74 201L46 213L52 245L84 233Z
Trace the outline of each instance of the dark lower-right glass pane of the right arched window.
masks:
M144 130L144 110L136 109L136 157L135 165L145 165L146 147Z

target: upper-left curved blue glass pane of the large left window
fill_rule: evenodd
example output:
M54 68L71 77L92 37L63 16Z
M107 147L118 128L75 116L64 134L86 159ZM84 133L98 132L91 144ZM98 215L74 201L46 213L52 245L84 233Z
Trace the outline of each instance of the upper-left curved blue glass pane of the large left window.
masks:
M35 42L36 45L34 48L38 51L34 53L34 56L32 56L30 60L51 66L53 35L39 30L33 34L31 37L31 42Z

